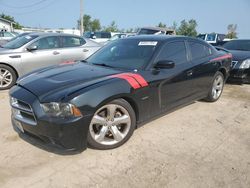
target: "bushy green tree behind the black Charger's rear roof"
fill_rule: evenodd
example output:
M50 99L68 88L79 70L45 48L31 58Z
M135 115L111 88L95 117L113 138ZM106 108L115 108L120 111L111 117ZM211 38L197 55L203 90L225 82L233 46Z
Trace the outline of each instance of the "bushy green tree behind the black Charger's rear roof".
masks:
M198 26L198 24L194 19L191 19L189 21L182 20L180 27L178 27L176 30L176 34L196 37L197 36L196 27L197 26Z

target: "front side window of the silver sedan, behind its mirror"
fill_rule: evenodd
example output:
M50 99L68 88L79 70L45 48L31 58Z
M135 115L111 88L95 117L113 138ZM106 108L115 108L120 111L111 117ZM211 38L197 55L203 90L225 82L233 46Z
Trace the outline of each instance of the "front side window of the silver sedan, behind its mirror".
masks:
M37 46L38 50L59 48L58 37L44 37L32 44L32 46Z

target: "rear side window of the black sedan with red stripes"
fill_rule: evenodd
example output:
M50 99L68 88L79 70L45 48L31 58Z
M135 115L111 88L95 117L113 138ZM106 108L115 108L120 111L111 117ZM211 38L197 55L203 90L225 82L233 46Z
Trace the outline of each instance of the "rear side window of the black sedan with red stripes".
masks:
M198 42L189 42L189 46L193 60L207 57L212 53L209 47Z

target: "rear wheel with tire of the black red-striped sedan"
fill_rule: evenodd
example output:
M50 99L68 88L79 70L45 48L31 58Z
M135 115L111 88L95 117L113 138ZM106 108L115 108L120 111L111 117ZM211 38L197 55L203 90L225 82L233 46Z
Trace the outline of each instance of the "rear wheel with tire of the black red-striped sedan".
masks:
M214 75L212 86L210 87L208 96L205 98L205 100L208 102L217 101L222 94L224 84L224 75L221 72L216 72L216 74Z

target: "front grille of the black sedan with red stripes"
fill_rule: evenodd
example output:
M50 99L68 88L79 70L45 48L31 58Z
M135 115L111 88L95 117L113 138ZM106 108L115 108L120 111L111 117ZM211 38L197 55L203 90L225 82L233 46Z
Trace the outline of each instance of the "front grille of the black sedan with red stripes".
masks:
M11 97L12 114L20 122L36 125L37 121L31 106L21 100Z

